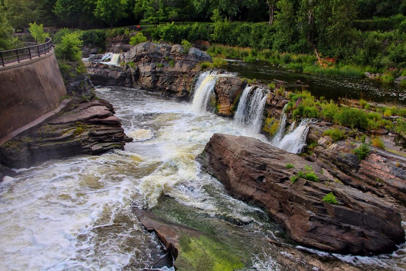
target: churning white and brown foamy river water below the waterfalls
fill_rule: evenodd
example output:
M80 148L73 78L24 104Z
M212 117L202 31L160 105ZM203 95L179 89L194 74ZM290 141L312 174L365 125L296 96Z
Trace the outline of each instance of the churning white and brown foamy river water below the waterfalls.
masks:
M0 183L0 270L168 269L157 263L162 246L133 207L167 210L172 222L185 221L176 210L207 221L226 244L251 251L244 270L312 269L315 261L368 270L406 268L404 244L375 257L303 251L266 213L228 196L194 161L215 132L266 141L263 135L196 112L191 103L140 90L101 88L97 95L114 105L135 141L125 151L22 169ZM269 243L268 237L284 245Z

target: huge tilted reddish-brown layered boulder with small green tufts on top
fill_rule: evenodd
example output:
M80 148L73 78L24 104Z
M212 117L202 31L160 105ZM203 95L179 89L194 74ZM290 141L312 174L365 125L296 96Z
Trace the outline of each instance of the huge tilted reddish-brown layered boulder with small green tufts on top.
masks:
M297 242L352 254L377 254L404 241L400 214L369 194L333 181L326 170L247 137L214 134L197 161L233 195L265 207ZM287 169L287 164L294 168ZM313 172L319 182L292 176ZM338 204L322 199L332 192Z

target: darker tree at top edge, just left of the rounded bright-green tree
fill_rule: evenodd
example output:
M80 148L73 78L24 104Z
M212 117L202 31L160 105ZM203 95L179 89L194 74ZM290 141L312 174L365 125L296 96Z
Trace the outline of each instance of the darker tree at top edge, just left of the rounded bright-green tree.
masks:
M82 13L81 0L57 0L54 13L58 19L70 24L73 30L74 23L77 22Z

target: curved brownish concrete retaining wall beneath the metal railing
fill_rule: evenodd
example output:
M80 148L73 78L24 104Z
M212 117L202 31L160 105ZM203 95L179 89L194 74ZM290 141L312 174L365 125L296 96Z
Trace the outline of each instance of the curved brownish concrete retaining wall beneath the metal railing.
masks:
M57 108L64 95L54 51L0 67L0 138Z

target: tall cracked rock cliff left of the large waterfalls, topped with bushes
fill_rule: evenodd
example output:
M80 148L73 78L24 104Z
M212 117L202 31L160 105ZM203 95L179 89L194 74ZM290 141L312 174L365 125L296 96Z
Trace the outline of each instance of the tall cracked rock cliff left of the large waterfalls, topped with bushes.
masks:
M166 96L186 99L194 78L200 71L197 65L211 57L196 48L184 52L182 46L141 43L121 55L125 65L112 66L87 63L95 85L138 87L161 92Z

